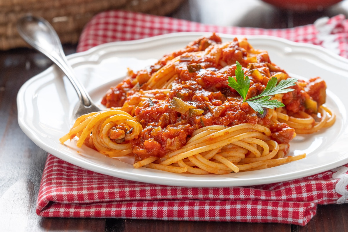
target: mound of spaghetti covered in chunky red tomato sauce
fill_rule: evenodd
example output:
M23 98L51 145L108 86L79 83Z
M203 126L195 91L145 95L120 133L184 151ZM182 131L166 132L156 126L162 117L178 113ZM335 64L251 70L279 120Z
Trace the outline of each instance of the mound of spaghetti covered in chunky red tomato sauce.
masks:
M228 86L236 61L250 78L246 98L259 95L273 77L289 78L267 51L246 39L222 43L212 34L147 69L129 70L102 100L111 109L82 115L60 141L77 136L77 146L109 157L133 155L135 168L175 173L237 173L304 158L286 156L296 133L315 133L335 121L323 105L325 82L299 80L293 91L272 97L284 107L260 114Z

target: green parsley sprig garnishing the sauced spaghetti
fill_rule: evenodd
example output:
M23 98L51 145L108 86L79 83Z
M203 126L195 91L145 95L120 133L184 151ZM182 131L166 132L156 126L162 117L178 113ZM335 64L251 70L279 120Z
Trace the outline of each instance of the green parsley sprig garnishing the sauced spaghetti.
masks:
M273 95L283 94L294 90L289 89L288 87L294 86L297 79L288 78L286 80L281 80L277 85L278 79L272 77L260 95L245 99L250 88L250 79L248 76L244 76L242 65L240 65L238 61L236 61L236 65L236 79L228 77L228 86L234 88L240 96L243 97L243 102L247 102L250 107L260 114L263 114L263 107L272 109L274 107L284 106L284 104L278 100L270 100Z

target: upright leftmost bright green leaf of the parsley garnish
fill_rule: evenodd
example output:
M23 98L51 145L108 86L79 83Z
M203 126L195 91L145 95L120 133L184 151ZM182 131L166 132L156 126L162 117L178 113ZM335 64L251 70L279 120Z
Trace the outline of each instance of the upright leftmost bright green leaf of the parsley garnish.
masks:
M236 61L236 65L237 81L233 77L228 77L228 86L234 88L238 94L243 97L243 102L245 102L245 97L250 87L250 80L248 76L245 76L244 79L244 71L242 70L242 65L240 65L238 61Z

